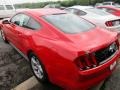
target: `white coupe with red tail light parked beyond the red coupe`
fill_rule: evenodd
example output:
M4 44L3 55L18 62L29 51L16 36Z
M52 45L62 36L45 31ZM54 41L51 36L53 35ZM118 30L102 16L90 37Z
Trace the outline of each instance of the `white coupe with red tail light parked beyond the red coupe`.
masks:
M120 32L120 18L99 10L92 6L72 6L65 9L68 12L74 13L97 26L103 27L111 31Z

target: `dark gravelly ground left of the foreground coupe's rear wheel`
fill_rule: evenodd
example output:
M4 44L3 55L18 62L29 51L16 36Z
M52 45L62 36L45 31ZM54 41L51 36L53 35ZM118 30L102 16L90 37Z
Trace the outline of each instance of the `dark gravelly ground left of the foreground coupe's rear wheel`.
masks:
M31 76L29 63L0 38L0 90L10 90Z

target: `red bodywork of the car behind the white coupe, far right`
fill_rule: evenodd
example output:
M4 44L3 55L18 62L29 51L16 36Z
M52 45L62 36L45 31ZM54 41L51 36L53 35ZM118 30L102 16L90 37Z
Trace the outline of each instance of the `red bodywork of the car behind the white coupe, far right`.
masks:
M97 8L106 9L107 12L109 12L115 16L120 16L120 8L116 8L113 6L98 6Z

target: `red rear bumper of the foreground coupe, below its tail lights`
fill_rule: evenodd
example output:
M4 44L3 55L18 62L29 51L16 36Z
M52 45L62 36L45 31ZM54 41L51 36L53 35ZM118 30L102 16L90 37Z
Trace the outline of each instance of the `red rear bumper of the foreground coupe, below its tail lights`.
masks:
M116 65L110 70L110 66L116 62L119 58L120 51L109 61L100 65L94 69L79 71L79 80L76 82L70 82L70 90L86 90L95 85L99 84L101 81L105 80L110 76L115 69Z

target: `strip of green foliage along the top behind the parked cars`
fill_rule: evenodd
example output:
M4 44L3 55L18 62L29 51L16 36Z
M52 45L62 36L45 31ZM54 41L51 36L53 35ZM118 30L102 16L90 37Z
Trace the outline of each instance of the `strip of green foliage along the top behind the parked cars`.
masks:
M103 1L109 1L109 0L65 0L65 1L57 1L57 2L39 2L39 3L25 3L25 4L16 4L16 8L42 8L47 4L50 3L59 3L64 7L69 7L73 5L94 5L95 3L100 3ZM115 2L120 3L120 0L113 0Z

